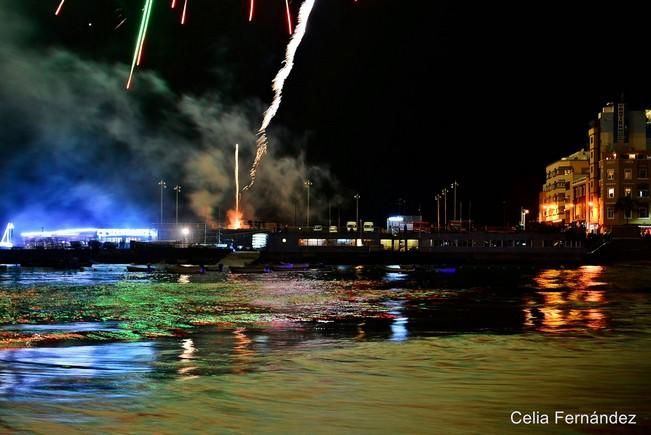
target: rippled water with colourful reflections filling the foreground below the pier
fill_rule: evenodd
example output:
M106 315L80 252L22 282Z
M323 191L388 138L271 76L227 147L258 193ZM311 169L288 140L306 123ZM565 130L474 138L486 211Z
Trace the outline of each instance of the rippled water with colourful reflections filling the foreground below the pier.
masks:
M0 277L0 433L651 429L648 266L98 273ZM638 424L510 423L557 410Z

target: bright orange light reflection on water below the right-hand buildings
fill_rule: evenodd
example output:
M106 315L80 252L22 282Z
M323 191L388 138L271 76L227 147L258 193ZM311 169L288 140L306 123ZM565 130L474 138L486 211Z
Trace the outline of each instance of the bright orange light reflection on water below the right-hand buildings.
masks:
M534 277L541 290L525 297L525 326L552 333L607 328L603 273L602 266L541 271Z

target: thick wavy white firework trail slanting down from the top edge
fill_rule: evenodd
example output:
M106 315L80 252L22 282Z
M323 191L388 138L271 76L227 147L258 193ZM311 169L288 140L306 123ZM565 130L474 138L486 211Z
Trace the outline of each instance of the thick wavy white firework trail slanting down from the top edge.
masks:
M260 162L264 158L265 154L267 154L267 147L269 144L267 139L267 127L269 127L271 120L274 119L276 113L278 112L278 108L280 107L280 102L283 99L283 88L285 87L285 80L287 80L287 78L292 72L292 68L294 67L294 57L296 56L296 51L298 50L298 47L301 45L301 41L303 41L303 36L305 36L305 31L307 30L307 23L310 19L310 14L312 13L312 9L314 8L315 1L316 0L305 0L305 2L303 2L303 4L301 5L301 9L298 13L298 24L296 25L296 30L294 31L294 35L289 40L289 44L287 44L287 50L285 53L285 60L283 61L283 66L282 68L280 68L278 74L276 74L276 77L271 82L272 84L271 88L274 91L274 100L271 103L271 106L269 106L267 111L264 113L264 119L262 120L262 125L258 130L258 139L256 140L257 149L255 153L255 160L253 161L253 166L251 166L251 171L249 171L249 175L251 176L251 181L249 181L249 184L247 184L242 189L243 191L250 189L255 183L255 176L258 171L258 166L260 166Z

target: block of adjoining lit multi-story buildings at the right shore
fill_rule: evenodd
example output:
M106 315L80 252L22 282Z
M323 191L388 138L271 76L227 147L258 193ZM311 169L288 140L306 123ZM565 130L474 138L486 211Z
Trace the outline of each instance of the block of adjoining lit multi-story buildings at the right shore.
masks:
M591 232L607 232L627 223L651 229L651 110L609 103L591 123L588 141L587 167L581 167L581 173L564 165L574 154L547 166L540 222L584 225ZM584 156L583 150L575 154ZM563 168L567 174L550 177L550 168ZM565 190L558 184L563 182Z

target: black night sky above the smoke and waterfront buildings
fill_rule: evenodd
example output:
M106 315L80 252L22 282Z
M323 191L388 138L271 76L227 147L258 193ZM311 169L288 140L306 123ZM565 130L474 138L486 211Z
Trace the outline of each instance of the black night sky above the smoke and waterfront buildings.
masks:
M67 0L61 17L53 16L58 0L7 0L2 8L33 26L25 43L37 52L64 50L119 65L131 60L141 3ZM217 93L224 105L246 106L255 130L288 41L284 2L257 3L250 24L247 1L190 0L188 24L180 26L167 2L157 1L141 71L155 73L178 98ZM300 3L292 3L295 16ZM280 155L304 152L309 165L327 168L336 182L313 201L338 194L347 216L359 192L362 215L374 220L398 211L399 198L406 212L421 207L431 219L434 194L456 178L473 217L501 224L506 207L515 222L520 205L535 210L544 166L585 146L588 123L603 104L622 92L635 105L651 103L651 5L574 3L317 0L271 128L282 144L272 139L271 147ZM57 74L65 78L65 71ZM148 128L162 128L158 113L169 108L142 98L153 118ZM20 156L21 141L29 140L21 128L33 127L20 125L0 134L3 159ZM110 154L120 144L103 146ZM152 182L138 200L152 211L156 162L139 164ZM22 174L2 178L3 190L38 190L46 179ZM16 202L26 201L4 201L0 218L10 219ZM273 210L264 213L274 220Z

